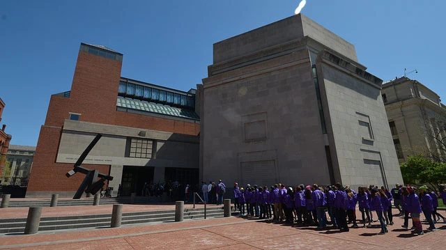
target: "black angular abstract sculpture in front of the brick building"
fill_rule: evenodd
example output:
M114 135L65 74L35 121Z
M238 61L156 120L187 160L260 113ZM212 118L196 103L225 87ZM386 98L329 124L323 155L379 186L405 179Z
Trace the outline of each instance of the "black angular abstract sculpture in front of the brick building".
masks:
M89 155L91 149L98 143L99 139L102 137L102 134L96 134L95 139L91 141L90 145L86 147L82 155L77 159L75 163L75 168L66 173L66 176L69 178L75 173L84 173L86 176L82 184L77 189L75 196L73 199L78 199L82 197L82 193L86 192L87 194L96 194L104 185L105 180L113 180L113 176L105 175L103 173L99 173L97 169L90 170L81 166L82 162L87 155ZM100 178L100 180L96 181L96 179Z

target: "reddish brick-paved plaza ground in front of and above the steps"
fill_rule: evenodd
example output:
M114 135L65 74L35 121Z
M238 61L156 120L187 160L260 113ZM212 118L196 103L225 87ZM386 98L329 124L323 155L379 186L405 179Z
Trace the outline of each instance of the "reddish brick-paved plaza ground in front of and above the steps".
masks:
M190 205L187 205L190 206ZM124 205L124 211L171 209L171 205ZM42 216L67 214L73 207L44 208ZM0 210L0 217L26 217L27 208ZM112 205L74 208L77 214L108 213ZM82 212L80 212L82 211ZM395 213L397 210L394 210ZM440 211L442 214L445 211ZM423 217L424 218L424 217ZM316 231L316 227L275 224L239 217L197 219L183 222L139 224L121 228L89 228L47 231L36 235L0 235L0 249L442 249L446 244L446 224L440 230L413 235L401 228L394 217L389 233L376 235L374 228ZM424 229L427 225L424 224ZM426 232L426 231L425 231Z

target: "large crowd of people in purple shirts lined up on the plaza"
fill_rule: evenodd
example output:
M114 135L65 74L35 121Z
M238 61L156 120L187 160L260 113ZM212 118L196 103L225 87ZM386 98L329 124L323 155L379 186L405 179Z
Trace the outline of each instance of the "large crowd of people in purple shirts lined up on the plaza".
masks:
M435 192L431 192L426 186L420 187L419 190L420 197L415 194L415 187L401 187L399 184L391 192L385 187L379 188L374 185L359 187L355 192L350 186L343 187L340 183L327 185L325 188L319 187L317 184L295 187L275 184L269 188L248 184L244 189L238 187L236 182L233 195L236 209L242 216L245 216L246 212L247 217L273 219L287 223L297 222L307 226L317 225L320 230L325 229L329 224L343 232L349 231L348 224L353 224L351 228L359 228L356 207L361 212L363 226L371 226L371 223L374 222L372 211L375 211L380 222L378 234L383 235L388 232L387 226L394 224L392 193L399 194L401 211L404 213L403 228L408 228L408 215L410 214L413 219L414 233L421 235L423 234L420 221L421 212L424 212L430 231L436 230L436 216L438 219L440 217L445 219L436 212L438 198ZM443 203L446 204L444 186L442 197ZM327 219L327 212L330 221Z

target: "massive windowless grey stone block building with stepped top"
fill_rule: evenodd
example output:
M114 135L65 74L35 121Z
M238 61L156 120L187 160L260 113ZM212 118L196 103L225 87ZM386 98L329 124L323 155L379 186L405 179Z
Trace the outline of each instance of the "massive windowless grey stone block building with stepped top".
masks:
M402 182L383 81L365 70L351 43L304 15L215 43L198 86L201 178Z

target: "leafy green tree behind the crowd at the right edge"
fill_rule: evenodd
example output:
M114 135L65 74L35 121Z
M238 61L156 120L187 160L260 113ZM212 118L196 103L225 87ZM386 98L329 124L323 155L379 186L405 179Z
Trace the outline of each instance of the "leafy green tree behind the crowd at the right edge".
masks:
M411 185L429 184L438 190L439 185L446 182L446 164L433 162L421 155L413 155L400 166L403 180Z

